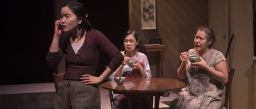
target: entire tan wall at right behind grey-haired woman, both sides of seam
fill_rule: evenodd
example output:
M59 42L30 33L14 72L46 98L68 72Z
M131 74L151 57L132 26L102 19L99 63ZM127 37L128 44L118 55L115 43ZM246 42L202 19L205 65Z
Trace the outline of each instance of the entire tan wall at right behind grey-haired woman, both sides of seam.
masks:
M209 0L209 26L216 32L216 49L225 53L228 39L235 33L228 55L229 69L235 68L232 109L254 108L252 15L252 0Z

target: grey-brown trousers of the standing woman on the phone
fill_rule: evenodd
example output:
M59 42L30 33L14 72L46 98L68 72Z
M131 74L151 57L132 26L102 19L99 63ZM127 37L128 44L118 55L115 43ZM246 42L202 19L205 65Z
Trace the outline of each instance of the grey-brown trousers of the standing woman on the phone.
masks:
M55 109L100 109L100 89L81 81L63 80L59 84Z

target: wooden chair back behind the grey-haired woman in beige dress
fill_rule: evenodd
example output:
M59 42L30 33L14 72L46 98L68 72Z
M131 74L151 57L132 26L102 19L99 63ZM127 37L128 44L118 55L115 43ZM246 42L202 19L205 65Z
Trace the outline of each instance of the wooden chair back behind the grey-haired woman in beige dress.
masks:
M231 84L232 84L232 79L235 73L235 69L230 69L228 71L228 83L225 84L226 86L226 92L225 92L225 103L224 103L224 107L226 109L228 109L228 100L229 100L229 95L230 95L230 89L231 89ZM230 107L230 105L229 105Z

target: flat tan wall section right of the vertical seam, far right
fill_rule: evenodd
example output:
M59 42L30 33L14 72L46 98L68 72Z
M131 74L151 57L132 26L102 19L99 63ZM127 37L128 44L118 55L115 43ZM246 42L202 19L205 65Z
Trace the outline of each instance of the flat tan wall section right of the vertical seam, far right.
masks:
M229 55L229 66L235 68L231 108L254 108L252 0L228 0L228 34L235 33Z

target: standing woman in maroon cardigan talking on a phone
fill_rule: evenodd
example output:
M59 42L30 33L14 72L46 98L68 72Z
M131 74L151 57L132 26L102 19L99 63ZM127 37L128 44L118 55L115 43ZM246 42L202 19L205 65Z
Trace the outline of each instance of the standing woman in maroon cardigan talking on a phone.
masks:
M55 109L100 109L98 83L104 81L123 62L123 55L100 31L92 29L85 7L79 2L65 4L47 62L56 66L65 55L66 73L60 82ZM59 28L62 24L63 28ZM100 51L111 57L107 69L95 77Z

